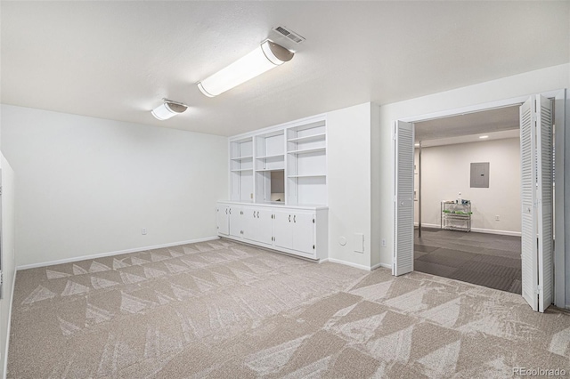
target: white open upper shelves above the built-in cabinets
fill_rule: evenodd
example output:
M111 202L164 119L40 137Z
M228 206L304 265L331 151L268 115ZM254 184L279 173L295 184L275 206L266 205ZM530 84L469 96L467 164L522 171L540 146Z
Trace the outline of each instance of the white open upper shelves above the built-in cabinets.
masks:
M275 181L282 181L282 197L274 196ZM326 206L325 117L231 138L230 192L232 201Z

